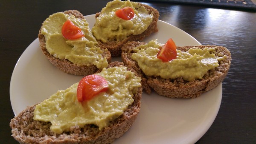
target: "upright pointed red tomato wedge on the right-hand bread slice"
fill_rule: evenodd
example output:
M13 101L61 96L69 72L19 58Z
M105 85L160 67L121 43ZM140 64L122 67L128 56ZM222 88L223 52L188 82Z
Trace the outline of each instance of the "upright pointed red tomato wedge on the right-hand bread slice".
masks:
M175 42L172 39L169 39L158 52L157 58L161 59L163 62L168 62L172 59L176 59L176 57L177 51Z

